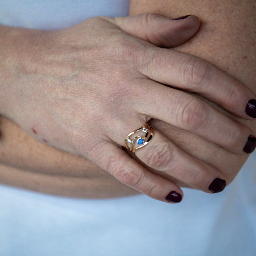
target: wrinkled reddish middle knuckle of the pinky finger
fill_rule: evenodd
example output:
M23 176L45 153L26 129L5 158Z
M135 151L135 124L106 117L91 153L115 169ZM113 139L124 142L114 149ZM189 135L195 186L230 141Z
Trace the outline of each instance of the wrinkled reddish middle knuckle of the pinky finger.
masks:
M136 187L142 180L142 174L131 169L129 165L124 165L119 157L112 156L109 158L107 170L116 179L128 186Z

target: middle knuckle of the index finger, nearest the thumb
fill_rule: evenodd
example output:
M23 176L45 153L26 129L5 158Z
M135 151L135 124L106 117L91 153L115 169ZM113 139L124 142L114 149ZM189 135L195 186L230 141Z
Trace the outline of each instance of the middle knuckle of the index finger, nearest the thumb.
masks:
M185 84L189 85L191 89L202 86L210 73L208 72L209 64L206 61L195 57L192 57L185 62L181 71Z

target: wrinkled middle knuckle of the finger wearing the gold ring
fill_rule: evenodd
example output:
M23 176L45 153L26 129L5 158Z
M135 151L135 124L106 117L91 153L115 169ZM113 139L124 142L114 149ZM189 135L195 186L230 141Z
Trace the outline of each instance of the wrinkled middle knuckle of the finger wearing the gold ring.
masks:
M146 158L150 167L155 169L167 167L173 159L173 147L168 142L158 143L151 147Z

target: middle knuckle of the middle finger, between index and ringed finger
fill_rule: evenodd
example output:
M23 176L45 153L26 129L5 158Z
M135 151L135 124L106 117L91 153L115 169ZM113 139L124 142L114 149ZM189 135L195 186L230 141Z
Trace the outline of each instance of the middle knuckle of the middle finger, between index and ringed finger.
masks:
M191 99L187 105L180 107L181 114L178 115L178 123L189 131L195 131L203 126L208 120L205 104L197 99Z

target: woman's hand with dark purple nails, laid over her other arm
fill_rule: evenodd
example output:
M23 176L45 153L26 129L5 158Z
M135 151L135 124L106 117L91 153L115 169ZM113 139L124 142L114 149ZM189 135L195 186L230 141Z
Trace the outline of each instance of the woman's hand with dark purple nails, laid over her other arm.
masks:
M209 104L169 87L196 92L251 119L245 108L255 95L242 83L201 59L157 47L181 44L198 27L195 16L173 21L142 15L92 18L58 31L6 29L10 41L19 38L22 43L6 44L18 61L12 69L10 64L2 69L2 84L8 85L2 86L2 113L37 140L90 159L148 196L181 200L177 185L122 150L127 134L153 117L236 154L244 154L253 135ZM218 169L186 154L157 130L136 156L205 192L213 180L221 182L217 190L225 187Z

